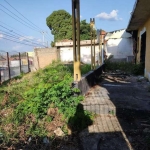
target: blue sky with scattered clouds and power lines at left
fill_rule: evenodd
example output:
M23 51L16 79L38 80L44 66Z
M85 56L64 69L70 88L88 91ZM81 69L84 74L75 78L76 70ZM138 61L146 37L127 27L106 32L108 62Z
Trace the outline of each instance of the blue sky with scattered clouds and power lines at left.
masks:
M49 46L53 35L46 18L60 9L72 14L71 3L72 0L0 0L0 53ZM80 0L80 19L89 23L90 18L95 18L96 29L107 32L125 29L134 3L135 0Z

